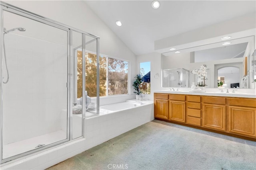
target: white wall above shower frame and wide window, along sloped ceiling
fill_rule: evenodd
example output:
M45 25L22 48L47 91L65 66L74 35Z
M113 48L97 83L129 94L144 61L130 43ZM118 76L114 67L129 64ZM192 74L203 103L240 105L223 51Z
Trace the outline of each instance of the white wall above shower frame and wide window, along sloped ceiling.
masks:
M115 33L88 7L86 1L9 1L8 4L100 37L100 53L130 61L130 84L136 75L136 57ZM129 90L133 94L133 88ZM134 96L135 98L135 96Z

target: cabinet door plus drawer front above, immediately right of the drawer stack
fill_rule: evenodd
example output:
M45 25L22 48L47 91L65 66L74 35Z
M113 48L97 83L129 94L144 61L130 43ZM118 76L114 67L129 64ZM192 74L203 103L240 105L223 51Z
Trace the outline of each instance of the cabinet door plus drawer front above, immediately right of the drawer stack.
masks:
M226 131L225 97L203 97L203 127Z

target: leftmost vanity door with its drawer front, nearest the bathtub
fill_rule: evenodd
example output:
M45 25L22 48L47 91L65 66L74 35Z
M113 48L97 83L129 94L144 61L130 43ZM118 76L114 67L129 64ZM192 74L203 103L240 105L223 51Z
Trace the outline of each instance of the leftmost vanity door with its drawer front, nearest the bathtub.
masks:
M154 116L168 119L168 94L154 94Z

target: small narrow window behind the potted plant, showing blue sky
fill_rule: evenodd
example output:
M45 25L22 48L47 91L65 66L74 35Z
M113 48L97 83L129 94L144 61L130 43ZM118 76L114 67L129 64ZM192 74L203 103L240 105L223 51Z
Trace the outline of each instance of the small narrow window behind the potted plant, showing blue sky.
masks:
M150 94L150 61L140 63L140 75L142 75L142 81L146 83L146 90L142 93Z

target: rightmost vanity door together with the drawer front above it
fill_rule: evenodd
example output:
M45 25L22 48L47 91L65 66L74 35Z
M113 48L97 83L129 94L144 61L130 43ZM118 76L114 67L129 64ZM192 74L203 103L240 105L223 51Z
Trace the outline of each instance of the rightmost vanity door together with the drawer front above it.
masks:
M256 100L228 99L229 133L256 137Z

